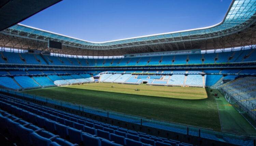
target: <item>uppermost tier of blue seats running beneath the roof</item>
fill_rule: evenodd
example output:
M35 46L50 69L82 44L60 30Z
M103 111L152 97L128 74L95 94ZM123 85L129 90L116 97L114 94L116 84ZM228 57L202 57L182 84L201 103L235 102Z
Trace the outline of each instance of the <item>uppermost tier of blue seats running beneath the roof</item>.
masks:
M3 54L3 55L1 55ZM7 58L7 63L19 64L42 64L42 65L66 65L66 66L146 66L146 65L185 65L185 64L206 64L206 63L227 63L256 61L255 49L207 53L207 54L184 54L152 57L132 57L113 59L92 59L92 58L69 58L49 55L1 52L0 63L5 63L2 56ZM22 58L25 60L23 61ZM203 60L202 60L203 59ZM40 61L39 61L40 60Z

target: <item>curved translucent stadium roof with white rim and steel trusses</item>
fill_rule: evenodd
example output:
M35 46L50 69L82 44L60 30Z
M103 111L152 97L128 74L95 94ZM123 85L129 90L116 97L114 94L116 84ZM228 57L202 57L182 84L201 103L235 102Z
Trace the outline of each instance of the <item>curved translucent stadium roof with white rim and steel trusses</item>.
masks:
M91 42L30 26L17 24L2 31L4 35L46 43L62 42L63 49L40 49L73 55L124 55L172 50L221 49L256 43L256 0L233 0L222 22L213 26L148 36ZM29 48L34 48L30 46Z

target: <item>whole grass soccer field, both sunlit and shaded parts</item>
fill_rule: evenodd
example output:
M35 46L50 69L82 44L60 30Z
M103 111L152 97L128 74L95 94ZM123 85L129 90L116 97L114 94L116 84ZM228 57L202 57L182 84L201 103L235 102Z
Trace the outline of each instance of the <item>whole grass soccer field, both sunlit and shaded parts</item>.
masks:
M113 85L114 88L111 87ZM140 91L134 91L135 88ZM104 110L221 130L216 101L214 97L207 98L205 88L91 83L24 92Z

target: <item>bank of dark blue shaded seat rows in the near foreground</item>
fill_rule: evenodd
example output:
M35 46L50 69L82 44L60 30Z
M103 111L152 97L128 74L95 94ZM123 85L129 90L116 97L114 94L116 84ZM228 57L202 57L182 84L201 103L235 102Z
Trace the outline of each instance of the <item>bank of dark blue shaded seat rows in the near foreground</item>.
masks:
M10 126L6 124L5 127L1 126L1 128L10 129L10 133L14 133L12 135L16 134L20 136L20 141L26 144L47 146L53 145L55 142L59 145L73 145L72 143L76 143L85 146L190 145L142 132L127 130L52 108L27 103L21 99L6 95L0 95L0 108L14 114L15 117L17 117L14 118L14 122L20 121L18 124L10 122ZM1 125L4 125L2 122L5 122L5 120L2 119L5 118L5 115L6 114L4 114L3 118L0 116ZM25 129L27 128L27 131L31 132L25 132L23 130L15 131L18 126L24 126ZM26 135L22 134L22 132Z

